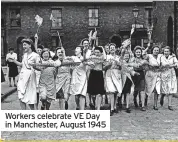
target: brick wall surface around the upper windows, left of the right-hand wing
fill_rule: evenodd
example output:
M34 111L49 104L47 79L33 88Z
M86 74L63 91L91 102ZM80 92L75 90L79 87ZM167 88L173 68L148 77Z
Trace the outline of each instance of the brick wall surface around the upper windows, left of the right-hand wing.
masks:
M120 30L131 29L134 24L132 9L134 3L6 3L6 40L8 47L17 49L17 39L19 37L31 37L36 33L34 17L40 15L44 18L42 27L39 30L41 43L51 47L51 36L56 35L56 31L51 30L50 14L53 6L62 8L62 29L59 33L63 36L63 46L68 55L74 54L73 50L83 38L86 38L91 28L88 27L88 8L96 6L99 8L99 44L105 45L109 38L119 33ZM152 3L137 3L140 10L138 24L146 23L145 7ZM9 9L11 7L21 8L21 28L11 29L9 19ZM93 28L92 28L93 30Z

